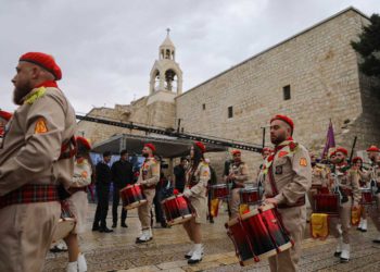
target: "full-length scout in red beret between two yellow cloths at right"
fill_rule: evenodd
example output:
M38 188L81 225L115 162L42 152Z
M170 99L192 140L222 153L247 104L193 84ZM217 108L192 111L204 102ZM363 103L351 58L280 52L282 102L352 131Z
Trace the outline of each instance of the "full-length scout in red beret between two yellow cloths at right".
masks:
M341 262L347 262L350 260L350 222L351 222L351 209L359 209L359 201L362 198L359 189L359 181L357 171L352 170L346 162L347 150L339 147L337 148L335 159L333 161L334 169L332 175L334 180L331 181L332 189L339 191L340 205L339 205L339 219L340 226L331 224L331 234L337 237L338 245L334 252L335 257L339 257ZM342 231L342 234L340 232Z

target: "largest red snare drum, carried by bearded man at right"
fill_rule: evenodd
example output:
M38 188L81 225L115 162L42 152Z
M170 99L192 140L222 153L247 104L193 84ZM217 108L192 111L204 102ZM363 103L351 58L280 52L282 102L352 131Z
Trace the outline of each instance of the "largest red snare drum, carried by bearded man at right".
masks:
M293 242L273 205L266 205L226 224L241 265L288 250Z

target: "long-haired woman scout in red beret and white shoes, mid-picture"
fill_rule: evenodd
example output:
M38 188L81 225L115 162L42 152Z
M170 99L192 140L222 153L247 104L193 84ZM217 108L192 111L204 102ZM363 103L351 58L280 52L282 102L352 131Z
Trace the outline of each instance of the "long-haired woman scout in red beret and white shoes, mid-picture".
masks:
M200 262L203 257L203 245L201 224L206 223L207 218L207 183L211 178L208 163L205 162L203 153L206 151L205 146L197 141L190 148L190 166L186 173L186 189L183 196L187 197L195 210L195 217L183 223L193 247L185 255L189 259L188 263Z

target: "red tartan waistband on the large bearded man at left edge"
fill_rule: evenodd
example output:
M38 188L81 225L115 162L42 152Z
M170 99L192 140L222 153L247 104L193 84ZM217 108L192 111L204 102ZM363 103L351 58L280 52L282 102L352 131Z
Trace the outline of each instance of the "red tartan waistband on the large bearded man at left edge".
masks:
M26 184L0 197L0 209L10 205L58 201L59 194L55 185Z

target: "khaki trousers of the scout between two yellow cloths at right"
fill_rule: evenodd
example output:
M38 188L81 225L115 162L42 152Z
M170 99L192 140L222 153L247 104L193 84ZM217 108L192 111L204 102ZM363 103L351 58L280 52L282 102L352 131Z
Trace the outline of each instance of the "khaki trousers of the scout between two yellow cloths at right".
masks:
M344 244L350 244L351 208L352 197L349 197L349 201L341 203L339 207L339 218L330 219L330 233L335 238L339 238L341 235L337 228L337 224L341 223Z

